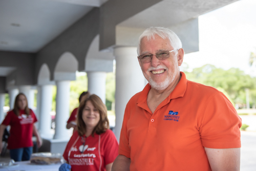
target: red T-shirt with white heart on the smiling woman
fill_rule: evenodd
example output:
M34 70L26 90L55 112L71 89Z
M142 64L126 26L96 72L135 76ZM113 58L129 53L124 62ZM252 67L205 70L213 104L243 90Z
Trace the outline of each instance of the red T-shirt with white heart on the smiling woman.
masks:
M63 157L71 165L71 170L106 170L105 166L114 162L118 156L118 142L114 133L106 130L105 133L84 139L83 146L82 137L77 131L74 132L64 151Z

